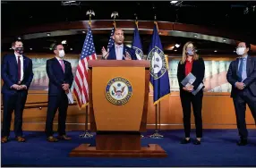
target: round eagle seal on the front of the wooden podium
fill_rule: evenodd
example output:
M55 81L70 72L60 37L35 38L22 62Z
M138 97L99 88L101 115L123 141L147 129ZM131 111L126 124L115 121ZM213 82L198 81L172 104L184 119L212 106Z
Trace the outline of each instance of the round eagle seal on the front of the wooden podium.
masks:
M132 97L132 84L123 77L109 80L105 90L107 100L113 105L124 105Z

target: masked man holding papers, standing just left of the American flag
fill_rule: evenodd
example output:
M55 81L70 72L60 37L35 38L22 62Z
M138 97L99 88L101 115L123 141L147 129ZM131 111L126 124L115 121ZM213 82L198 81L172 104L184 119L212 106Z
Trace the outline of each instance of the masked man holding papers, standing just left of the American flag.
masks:
M64 46L54 46L55 57L47 60L47 75L49 78L48 108L46 121L46 134L49 142L57 142L58 139L69 140L65 134L65 121L68 108L68 97L73 84L73 72L71 63L65 61ZM53 122L58 110L58 138L53 137Z

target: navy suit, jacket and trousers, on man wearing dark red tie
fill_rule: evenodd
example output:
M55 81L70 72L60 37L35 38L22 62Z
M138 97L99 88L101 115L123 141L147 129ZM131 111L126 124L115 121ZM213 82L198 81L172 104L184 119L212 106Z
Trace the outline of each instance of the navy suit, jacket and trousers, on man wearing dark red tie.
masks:
M23 80L20 85L26 85L27 89L16 90L11 88L13 84L18 84L18 63L16 56L4 55L1 67L1 76L4 81L2 87L4 116L2 136L9 136L14 110L14 133L16 137L22 136L22 113L27 100L30 83L33 80L32 61L27 56L23 56Z

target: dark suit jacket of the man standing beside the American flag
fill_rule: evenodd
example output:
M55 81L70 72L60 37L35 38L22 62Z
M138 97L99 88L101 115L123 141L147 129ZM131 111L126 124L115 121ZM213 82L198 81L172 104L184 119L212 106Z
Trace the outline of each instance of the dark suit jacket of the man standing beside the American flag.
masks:
M71 63L64 60L65 72L59 61L54 57L47 60L47 75L49 78L48 96L58 96L64 93L62 84L68 83L70 88L73 84L73 72Z

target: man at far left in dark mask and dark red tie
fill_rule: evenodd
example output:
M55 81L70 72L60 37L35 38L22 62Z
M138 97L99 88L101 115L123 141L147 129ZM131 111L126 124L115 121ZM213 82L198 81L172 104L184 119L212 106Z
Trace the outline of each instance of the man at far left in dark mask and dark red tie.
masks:
M8 141L12 113L14 111L14 133L18 142L25 142L22 137L22 114L27 100L28 89L33 80L32 61L23 55L23 44L16 40L12 44L13 55L5 55L2 61L1 75L3 93L3 127L1 142Z

